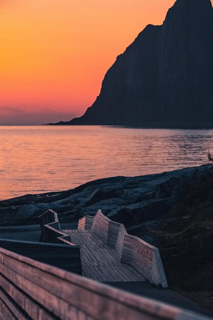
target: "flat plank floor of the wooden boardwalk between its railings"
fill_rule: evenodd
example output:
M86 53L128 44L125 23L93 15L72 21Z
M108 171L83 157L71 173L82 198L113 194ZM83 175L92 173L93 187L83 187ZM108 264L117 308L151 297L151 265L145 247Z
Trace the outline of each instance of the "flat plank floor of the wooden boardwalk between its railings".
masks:
M91 230L63 230L80 246L82 274L100 282L147 281L132 266L120 262L115 248L105 244Z

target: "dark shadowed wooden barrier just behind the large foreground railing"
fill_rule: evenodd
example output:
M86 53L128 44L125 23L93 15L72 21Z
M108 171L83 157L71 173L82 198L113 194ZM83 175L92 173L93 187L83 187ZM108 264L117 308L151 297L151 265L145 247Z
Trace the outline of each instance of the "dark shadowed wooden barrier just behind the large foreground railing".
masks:
M82 275L79 246L0 239L0 247Z

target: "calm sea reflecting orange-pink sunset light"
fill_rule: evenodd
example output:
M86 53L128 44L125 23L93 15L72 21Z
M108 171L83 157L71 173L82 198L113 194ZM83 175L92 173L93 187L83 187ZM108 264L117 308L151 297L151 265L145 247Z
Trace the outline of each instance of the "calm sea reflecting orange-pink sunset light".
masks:
M0 199L206 163L213 130L0 126Z

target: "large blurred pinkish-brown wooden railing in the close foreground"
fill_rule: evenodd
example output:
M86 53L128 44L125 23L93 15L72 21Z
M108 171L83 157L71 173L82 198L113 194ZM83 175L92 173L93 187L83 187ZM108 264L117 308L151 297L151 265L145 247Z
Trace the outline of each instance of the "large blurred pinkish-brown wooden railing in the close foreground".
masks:
M0 248L0 320L207 320Z

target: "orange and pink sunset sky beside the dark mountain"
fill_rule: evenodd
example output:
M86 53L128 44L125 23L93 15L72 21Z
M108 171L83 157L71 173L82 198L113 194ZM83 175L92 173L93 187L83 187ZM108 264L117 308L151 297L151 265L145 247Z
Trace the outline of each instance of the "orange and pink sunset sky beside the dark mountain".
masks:
M116 56L175 0L0 0L0 124L81 116Z

